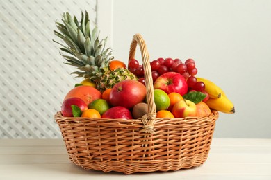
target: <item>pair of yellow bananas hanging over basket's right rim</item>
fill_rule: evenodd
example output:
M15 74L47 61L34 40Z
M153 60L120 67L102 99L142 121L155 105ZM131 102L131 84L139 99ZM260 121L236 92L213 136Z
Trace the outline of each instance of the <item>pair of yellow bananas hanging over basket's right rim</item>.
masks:
M209 100L206 101L208 107L229 114L235 112L233 103L227 98L220 87L217 87L215 83L204 78L197 78L197 81L204 82L205 84L205 91L210 96Z

